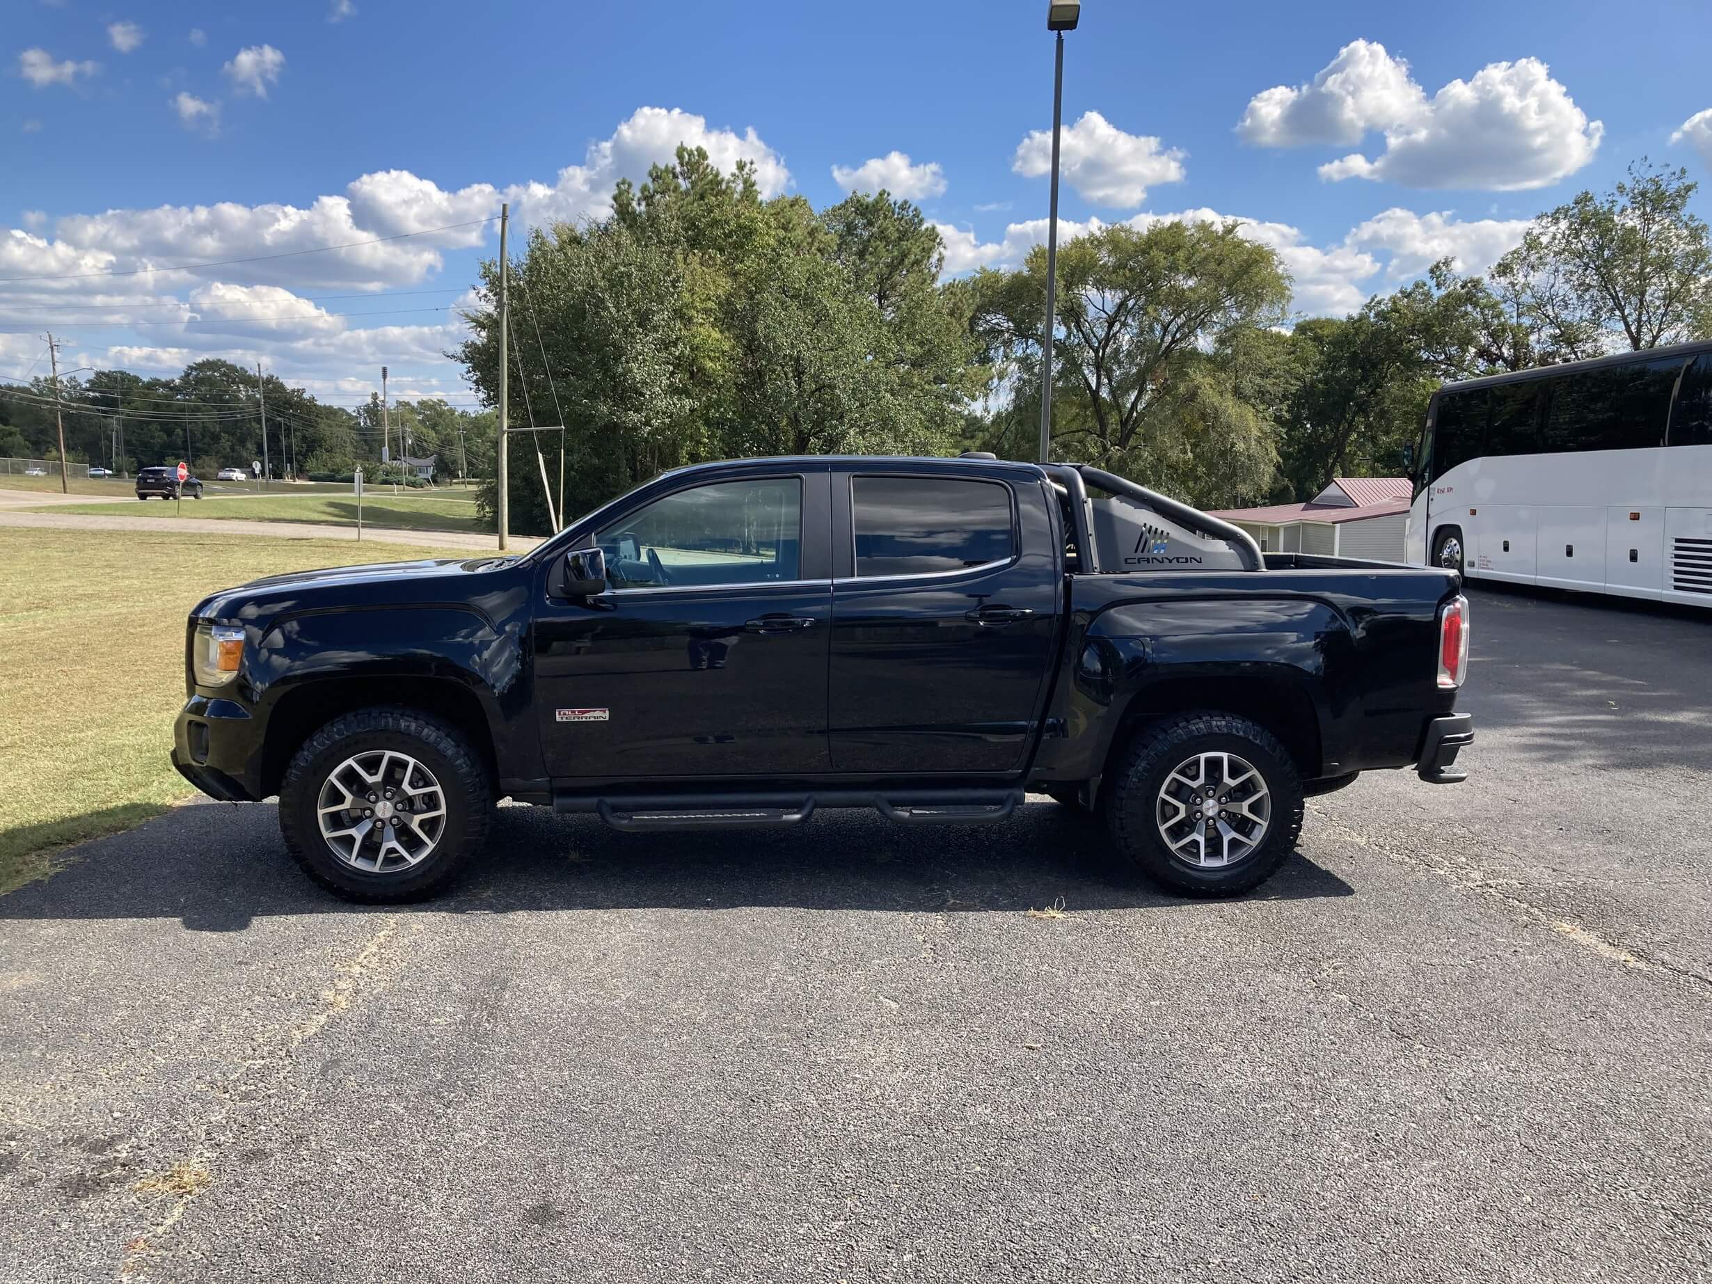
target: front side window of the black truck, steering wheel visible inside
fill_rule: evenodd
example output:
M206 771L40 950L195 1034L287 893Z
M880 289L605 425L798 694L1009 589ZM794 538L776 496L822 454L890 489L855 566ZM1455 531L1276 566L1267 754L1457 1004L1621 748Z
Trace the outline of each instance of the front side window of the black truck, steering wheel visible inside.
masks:
M721 481L654 500L596 536L618 589L794 580L803 483Z

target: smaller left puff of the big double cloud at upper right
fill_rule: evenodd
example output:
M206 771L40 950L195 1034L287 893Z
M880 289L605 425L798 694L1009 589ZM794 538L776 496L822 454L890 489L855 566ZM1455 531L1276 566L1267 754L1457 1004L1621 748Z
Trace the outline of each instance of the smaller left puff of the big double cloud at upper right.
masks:
M1424 104L1426 94L1409 77L1409 63L1392 58L1383 45L1356 39L1311 84L1281 84L1255 94L1236 135L1257 147L1349 146L1368 130L1414 118Z

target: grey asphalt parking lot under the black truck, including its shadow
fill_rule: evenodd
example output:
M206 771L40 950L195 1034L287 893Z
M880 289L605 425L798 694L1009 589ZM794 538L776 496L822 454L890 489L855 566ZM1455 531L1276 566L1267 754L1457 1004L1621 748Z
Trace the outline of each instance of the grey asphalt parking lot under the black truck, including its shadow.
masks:
M86 844L0 899L0 1279L1703 1281L1712 621L1474 621L1476 782L1239 902L1049 805L505 808L406 911L272 806Z

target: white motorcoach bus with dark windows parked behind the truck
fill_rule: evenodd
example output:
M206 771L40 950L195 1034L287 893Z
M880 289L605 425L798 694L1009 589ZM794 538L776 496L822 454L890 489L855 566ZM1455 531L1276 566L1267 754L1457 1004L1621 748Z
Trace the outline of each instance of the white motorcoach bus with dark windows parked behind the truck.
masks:
M1447 383L1409 560L1712 606L1712 342Z

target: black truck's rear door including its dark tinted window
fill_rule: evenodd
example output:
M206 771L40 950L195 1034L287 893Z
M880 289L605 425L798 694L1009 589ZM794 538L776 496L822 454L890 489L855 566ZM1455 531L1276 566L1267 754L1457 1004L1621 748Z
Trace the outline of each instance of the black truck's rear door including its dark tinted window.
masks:
M1063 594L1041 478L971 464L835 473L832 514L834 770L1019 770Z

